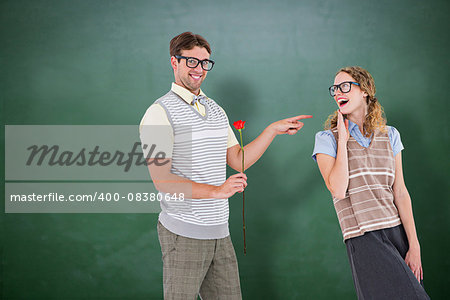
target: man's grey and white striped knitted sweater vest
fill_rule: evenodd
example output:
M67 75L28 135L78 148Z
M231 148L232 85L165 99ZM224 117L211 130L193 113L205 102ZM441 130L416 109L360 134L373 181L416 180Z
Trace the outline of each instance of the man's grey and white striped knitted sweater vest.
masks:
M207 98L205 116L170 91L156 101L166 111L174 134L172 169L175 175L197 183L219 186L226 180L228 118L217 103ZM218 239L229 235L228 199L162 197L159 221L178 235Z

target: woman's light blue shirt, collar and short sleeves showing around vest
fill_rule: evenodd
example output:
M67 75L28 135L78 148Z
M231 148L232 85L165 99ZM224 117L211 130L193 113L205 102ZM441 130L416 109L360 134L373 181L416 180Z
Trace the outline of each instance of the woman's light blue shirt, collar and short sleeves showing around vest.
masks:
M400 133L392 126L387 126L389 141L391 142L392 151L396 156L404 149L402 141L400 140ZM358 125L348 120L348 131L350 135L364 148L369 147L372 141L371 137L365 137L359 130ZM331 130L319 131L316 134L316 143L314 145L314 152L312 158L316 160L316 154L323 153L336 158L337 144Z

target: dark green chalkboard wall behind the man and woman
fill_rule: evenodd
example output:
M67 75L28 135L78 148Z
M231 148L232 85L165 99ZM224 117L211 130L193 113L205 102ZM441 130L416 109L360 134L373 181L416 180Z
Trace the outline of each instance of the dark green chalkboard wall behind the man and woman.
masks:
M1 117L11 125L138 124L170 88L170 39L202 34L216 61L203 90L230 121L247 121L247 141L280 118L314 115L247 172L246 256L241 195L230 199L244 299L355 299L330 195L310 155L314 134L336 109L327 92L334 73L363 66L401 133L425 285L443 299L450 294L449 3L2 1ZM156 214L3 213L2 296L161 299L156 221Z

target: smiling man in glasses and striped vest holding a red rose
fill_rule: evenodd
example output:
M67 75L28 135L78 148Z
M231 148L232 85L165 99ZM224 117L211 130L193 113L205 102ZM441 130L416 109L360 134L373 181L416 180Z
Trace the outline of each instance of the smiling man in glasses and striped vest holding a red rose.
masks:
M247 177L237 173L226 179L226 164L241 171L242 152L224 110L200 89L214 65L210 55L210 45L200 35L184 32L174 37L170 63L175 82L141 121L142 144L151 143L144 126L171 128L166 140L172 154L169 163L148 162L153 182L164 195L158 236L165 299L197 299L199 294L202 299L241 299L228 230L228 198L244 190ZM276 135L297 133L303 127L298 120L310 117L270 124L245 146L245 168L261 157ZM170 201L173 195L179 201Z

